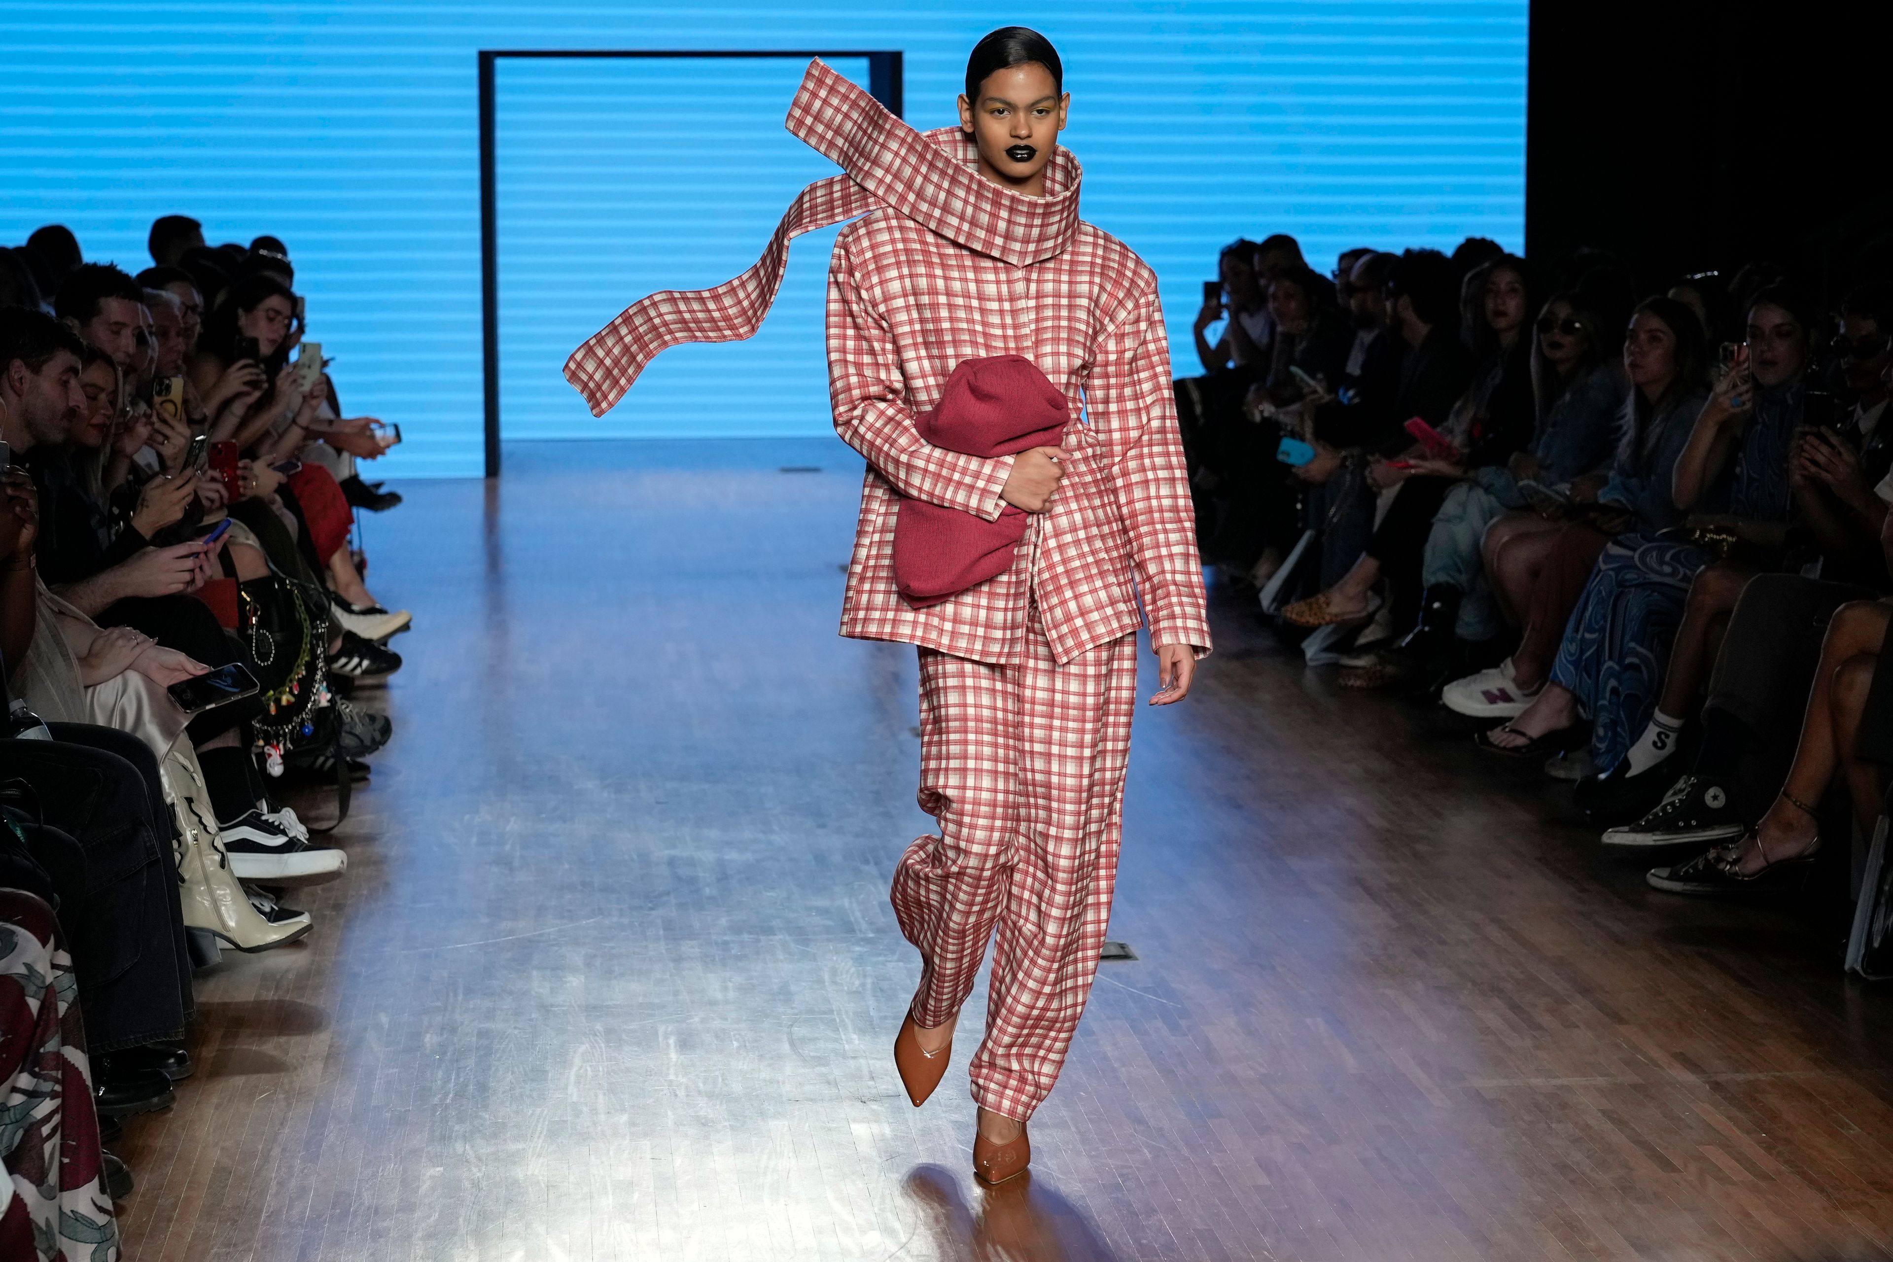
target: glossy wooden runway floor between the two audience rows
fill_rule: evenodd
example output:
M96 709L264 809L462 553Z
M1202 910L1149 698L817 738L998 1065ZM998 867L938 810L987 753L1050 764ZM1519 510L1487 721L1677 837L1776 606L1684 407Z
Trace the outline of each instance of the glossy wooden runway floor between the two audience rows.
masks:
M1138 715L1138 959L1030 1186L979 1192L971 1039L920 1111L888 1056L888 874L929 821L912 651L835 636L858 488L827 441L401 486L369 581L416 630L348 876L305 944L201 976L201 1069L119 1145L129 1258L1893 1245L1885 991L1779 908L1645 889L1539 781L1227 602L1198 694Z

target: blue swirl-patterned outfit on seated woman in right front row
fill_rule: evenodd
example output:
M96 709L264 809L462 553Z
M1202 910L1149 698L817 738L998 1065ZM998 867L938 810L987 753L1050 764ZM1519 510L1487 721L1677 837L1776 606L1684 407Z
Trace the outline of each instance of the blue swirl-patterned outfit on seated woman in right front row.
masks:
M1698 507L1715 511L1721 501L1736 517L1787 520L1787 452L1802 394L1796 378L1757 395L1734 469ZM1569 689L1594 725L1590 757L1598 770L1617 766L1656 713L1689 585L1711 560L1668 530L1619 535L1598 558L1550 670L1552 683Z

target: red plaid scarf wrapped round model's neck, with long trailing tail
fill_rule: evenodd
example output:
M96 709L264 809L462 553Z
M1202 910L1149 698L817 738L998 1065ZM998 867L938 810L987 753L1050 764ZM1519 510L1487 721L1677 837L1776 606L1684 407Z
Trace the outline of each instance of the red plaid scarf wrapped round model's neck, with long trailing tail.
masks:
M820 59L803 76L787 129L846 174L805 187L763 257L734 280L714 289L659 289L574 350L566 380L593 416L611 411L666 346L755 335L782 288L789 240L803 233L888 208L1013 267L1064 252L1077 233L1083 170L1062 146L1045 168L1045 197L1013 193L979 174L973 138L958 127L916 132Z

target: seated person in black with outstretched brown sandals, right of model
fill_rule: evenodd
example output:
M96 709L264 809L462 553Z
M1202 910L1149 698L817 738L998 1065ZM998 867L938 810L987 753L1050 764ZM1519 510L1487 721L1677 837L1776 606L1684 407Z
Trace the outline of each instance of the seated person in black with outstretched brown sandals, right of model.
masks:
M1452 263L1437 250L1408 250L1389 269L1388 310L1408 352L1391 411L1380 424L1382 433L1399 433L1408 416L1442 429L1465 394L1473 363L1460 337L1458 291ZM1461 469L1429 460L1405 433L1397 450L1397 460L1380 458L1367 467L1367 484L1384 496L1391 492L1391 505L1380 515L1365 551L1340 583L1285 605L1283 621L1310 628L1367 621L1378 607L1372 588L1382 573L1408 619L1418 619L1420 552L1427 526ZM1401 607L1395 609L1395 624L1412 624L1401 617Z

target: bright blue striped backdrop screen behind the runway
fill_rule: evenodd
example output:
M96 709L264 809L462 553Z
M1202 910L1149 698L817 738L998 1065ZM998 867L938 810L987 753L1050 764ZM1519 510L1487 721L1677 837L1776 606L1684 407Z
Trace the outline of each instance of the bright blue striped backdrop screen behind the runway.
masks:
M475 475L481 47L903 49L907 117L937 127L973 40L1034 25L1066 59L1085 216L1157 267L1193 363L1200 282L1230 237L1295 233L1323 269L1352 244L1522 244L1526 21L1528 0L15 0L0 242L57 219L136 269L157 214L197 216L212 242L274 233L345 403L403 426L382 471ZM680 98L663 62L502 62L507 437L825 431L831 235L797 244L765 342L670 352L649 397L604 420L557 375L646 288L746 265L825 174L780 131L797 68L738 64Z

